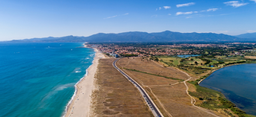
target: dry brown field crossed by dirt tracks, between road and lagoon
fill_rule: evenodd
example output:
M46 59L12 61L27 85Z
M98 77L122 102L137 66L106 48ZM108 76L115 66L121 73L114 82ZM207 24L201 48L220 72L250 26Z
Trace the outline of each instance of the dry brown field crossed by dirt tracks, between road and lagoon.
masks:
M141 61L142 60L142 61ZM178 69L166 68L153 61L141 57L121 58L117 62L119 68L135 69L142 72L159 74L166 77L191 80L189 74ZM186 82L166 79L145 73L122 69L127 75L139 83L150 95L165 117L227 117L226 115L194 106L194 100L187 90L193 86ZM185 84L186 83L186 84Z

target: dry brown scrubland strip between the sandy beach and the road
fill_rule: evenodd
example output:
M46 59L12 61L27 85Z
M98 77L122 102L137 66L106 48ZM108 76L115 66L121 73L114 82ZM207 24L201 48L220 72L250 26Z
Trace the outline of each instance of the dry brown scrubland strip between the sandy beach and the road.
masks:
M112 66L114 60L99 60L90 117L152 117L137 89Z

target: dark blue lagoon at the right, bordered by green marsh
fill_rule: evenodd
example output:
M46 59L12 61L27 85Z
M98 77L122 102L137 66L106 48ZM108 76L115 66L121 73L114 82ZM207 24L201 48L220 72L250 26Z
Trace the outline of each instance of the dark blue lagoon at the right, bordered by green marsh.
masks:
M200 86L222 92L247 114L256 115L256 64L242 64L215 71Z

